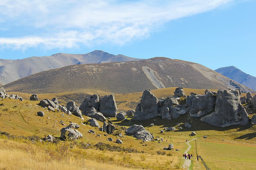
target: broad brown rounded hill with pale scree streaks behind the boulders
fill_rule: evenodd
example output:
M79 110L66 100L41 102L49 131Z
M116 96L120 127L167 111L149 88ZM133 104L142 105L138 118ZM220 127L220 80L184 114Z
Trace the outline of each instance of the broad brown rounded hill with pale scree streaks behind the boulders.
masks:
M252 91L197 63L165 57L127 62L82 64L40 72L4 85L6 91L61 93L97 89L111 93L142 92L145 89L187 87Z

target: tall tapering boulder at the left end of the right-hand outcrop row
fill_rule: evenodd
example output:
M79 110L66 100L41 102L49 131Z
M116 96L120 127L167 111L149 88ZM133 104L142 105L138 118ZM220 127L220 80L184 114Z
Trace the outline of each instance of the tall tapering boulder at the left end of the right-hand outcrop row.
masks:
M150 89L143 92L140 103L136 107L134 120L149 120L158 115L158 99Z

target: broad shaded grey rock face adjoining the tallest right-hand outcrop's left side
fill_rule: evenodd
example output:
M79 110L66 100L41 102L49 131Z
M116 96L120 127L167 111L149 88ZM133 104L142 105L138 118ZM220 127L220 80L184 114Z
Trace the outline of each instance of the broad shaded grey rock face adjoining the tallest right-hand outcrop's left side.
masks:
M191 117L200 117L203 116L210 111L214 109L214 103L215 103L215 97L212 92L207 92L207 94L201 96L201 95L193 95L188 96L189 101L186 101L186 104L191 102L191 105L189 106L189 115Z

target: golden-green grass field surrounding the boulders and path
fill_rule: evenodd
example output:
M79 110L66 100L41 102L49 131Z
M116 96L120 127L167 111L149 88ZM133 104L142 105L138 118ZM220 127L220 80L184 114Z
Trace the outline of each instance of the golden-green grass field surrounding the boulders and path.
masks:
M211 89L214 90L214 89ZM166 89L157 89L152 90L152 93L158 97L168 97L173 95L175 88L166 88ZM194 92L197 94L204 94L205 89L187 89L184 88L186 94L190 94L190 92ZM217 90L214 90L217 91ZM96 92L95 92L96 93ZM12 94L12 93L9 93ZM70 148L70 154L74 155L75 148L80 147L80 143L91 143L91 145L95 145L98 142L111 144L113 146L119 146L114 142L107 141L108 137L112 137L114 141L116 140L116 136L108 135L108 137L104 136L104 132L99 131L97 128L91 127L89 125L82 125L81 123L84 120L75 117L74 115L68 116L64 114L64 117L61 116L61 112L52 112L46 111L44 108L38 106L39 101L29 101L29 97L31 94L25 93L13 93L22 96L24 101L16 101L13 99L3 99L0 101L0 127L2 132L8 132L10 135L23 135L23 136L39 136L43 138L48 134L51 134L55 137L60 137L60 129L65 127L61 125L59 122L62 120L64 124L69 124L69 121L80 124L80 131L84 137L78 139L76 144L74 144ZM38 94L39 100L48 98L52 99L53 97L58 97L60 103L65 104L68 101L74 100L77 104L80 104L79 101L83 100L83 96L87 94L94 94L89 92L89 90L84 91L76 91L73 93L62 93L62 94ZM107 92L99 92L96 93L101 96L108 94ZM244 95L244 94L243 94ZM78 97L79 96L79 97ZM136 105L140 102L140 98L142 96L142 92L132 93L132 94L115 94L115 99L118 105L118 110L130 110L134 109ZM81 101L82 102L82 101ZM37 116L37 111L44 111L44 117ZM251 116L251 115L250 115ZM48 119L48 117L50 119ZM85 120L89 119L84 117ZM85 151L87 154L97 155L102 153L103 155L107 155L107 159L113 158L113 163L106 164L100 161L92 160L87 157L88 160L84 160L84 162L76 162L77 169L122 169L124 168L120 161L122 159L127 159L128 155L132 158L136 165L140 168L142 165L147 165L145 169L176 169L180 167L184 159L182 159L183 152L187 149L187 145L185 143L186 139L190 139L190 134L192 131L196 132L197 139L197 152L199 155L203 157L206 164L212 169L254 169L256 166L255 160L251 155L255 155L256 152L256 125L248 124L246 126L230 126L225 128L217 128L212 125L201 122L197 118L188 117L187 115L181 115L177 119L172 120L162 120L160 117L154 118L156 121L148 120L148 121L133 121L132 118L128 118L130 121L117 121L115 118L111 118L111 121L116 124L116 131L124 134L124 130L121 130L121 126L129 127L133 124L142 124L145 128L149 129L155 137L163 138L163 142L158 143L155 142L146 142L142 143L140 140L134 139L132 136L125 136L122 138L123 140L123 148L132 148L137 150L138 152L110 152L108 150L96 150L96 148L89 148ZM189 122L192 125L191 129L185 129L184 123ZM154 126L149 127L149 124L154 123ZM181 125L176 125L180 123ZM103 125L102 122L99 122L100 126ZM183 129L178 130L178 127L182 127ZM176 127L176 131L167 132L165 131L163 134L160 134L160 130L164 127ZM94 129L96 134L100 134L101 137L98 137L93 134L89 134L88 130ZM207 135L207 139L203 139L203 136ZM171 137L171 139L170 139ZM45 164L49 164L49 167L52 169L63 169L66 167L73 167L75 164L71 160L69 162L58 162L51 161L47 162L45 159L41 159L40 155L47 155L44 146L40 146L37 154L37 159L32 159L28 157L27 153L21 149L21 143L17 140L12 139L0 139L0 154L2 155L10 155L8 157L4 157L4 159L0 159L0 169L17 169L17 167L22 167L21 169L43 169L42 167ZM223 140L224 139L224 140ZM7 142L5 140L8 140ZM167 142L166 142L167 140ZM169 145L169 143L173 143L174 149L179 149L180 151L165 151L165 155L158 155L157 152L163 152L163 147ZM145 145L146 144L146 145ZM195 143L190 143L192 145L190 153L193 153L194 157L192 159L192 165L190 169L203 169L203 164L201 161L196 160L196 147ZM84 149L82 149L84 150ZM12 154L13 153L13 154ZM169 154L169 156L167 156ZM210 157L208 155L211 155ZM3 157L2 155L1 158ZM17 156L18 155L18 156ZM126 157L124 157L126 155ZM99 155L98 155L99 156ZM129 158L129 157L128 157ZM145 160L144 160L145 159ZM37 160L41 160L40 162ZM118 162L119 161L119 162ZM7 162L13 162L12 164L7 164ZM134 169L132 166L134 162L128 163L125 168ZM138 163L138 164L137 164ZM96 166L96 165L102 166ZM141 167L142 168L142 167ZM181 168L180 168L181 169Z

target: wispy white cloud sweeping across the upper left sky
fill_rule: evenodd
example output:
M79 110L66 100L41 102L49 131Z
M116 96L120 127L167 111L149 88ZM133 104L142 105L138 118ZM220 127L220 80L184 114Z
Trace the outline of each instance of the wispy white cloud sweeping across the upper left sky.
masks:
M12 27L22 35L0 35L0 46L71 48L95 42L123 45L150 36L166 22L213 10L230 1L2 0L0 24L6 25L2 30Z

